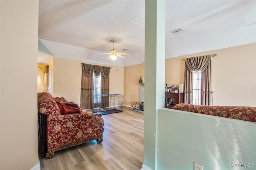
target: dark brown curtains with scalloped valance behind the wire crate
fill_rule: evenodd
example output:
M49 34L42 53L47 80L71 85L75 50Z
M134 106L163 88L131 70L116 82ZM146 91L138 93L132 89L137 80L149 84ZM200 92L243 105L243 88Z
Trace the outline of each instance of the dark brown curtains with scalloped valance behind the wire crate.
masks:
M109 74L110 67L98 66L91 64L82 63L82 82L81 82L81 97L80 97L80 107L82 109L93 109L93 76L101 76L101 103L100 107L108 107L109 104ZM106 96L104 95L106 94Z

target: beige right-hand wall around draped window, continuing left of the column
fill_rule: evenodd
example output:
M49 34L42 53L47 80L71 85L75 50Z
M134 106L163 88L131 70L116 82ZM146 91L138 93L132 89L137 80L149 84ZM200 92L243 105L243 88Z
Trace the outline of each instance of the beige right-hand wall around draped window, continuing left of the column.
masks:
M182 59L210 54L217 54L212 58L214 105L256 106L256 43L166 59L166 83L184 84ZM139 100L140 74L144 75L144 64L124 68L124 104Z

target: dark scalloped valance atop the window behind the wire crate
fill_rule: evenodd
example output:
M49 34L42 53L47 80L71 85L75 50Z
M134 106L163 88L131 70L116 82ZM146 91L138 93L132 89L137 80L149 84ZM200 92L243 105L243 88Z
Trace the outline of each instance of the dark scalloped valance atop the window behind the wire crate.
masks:
M98 66L98 65L91 65L91 64L85 64L82 63L82 70L85 74L85 76L90 76L92 72L94 72L94 76L99 77L100 73L107 78L109 77L110 74L110 68L111 67L106 67L106 66Z

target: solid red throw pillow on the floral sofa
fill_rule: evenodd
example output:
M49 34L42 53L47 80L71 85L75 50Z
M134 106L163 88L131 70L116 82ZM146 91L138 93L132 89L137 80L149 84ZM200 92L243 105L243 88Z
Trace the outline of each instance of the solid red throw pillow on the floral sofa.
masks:
M62 115L70 114L70 113L81 113L82 109L78 106L78 104L74 103L57 103L60 107L60 113Z

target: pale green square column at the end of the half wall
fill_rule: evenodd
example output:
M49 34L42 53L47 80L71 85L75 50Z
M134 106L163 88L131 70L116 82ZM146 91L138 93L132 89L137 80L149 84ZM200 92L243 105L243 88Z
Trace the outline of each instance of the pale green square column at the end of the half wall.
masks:
M145 1L144 164L156 169L157 110L164 107L165 1Z

